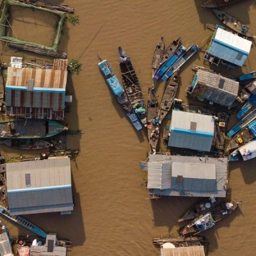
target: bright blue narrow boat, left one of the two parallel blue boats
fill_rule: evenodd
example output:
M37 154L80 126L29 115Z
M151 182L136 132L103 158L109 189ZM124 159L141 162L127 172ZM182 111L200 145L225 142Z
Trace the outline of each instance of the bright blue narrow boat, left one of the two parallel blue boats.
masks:
M179 60L180 57L182 57L186 52L186 47L183 45L180 45L180 47L166 60L163 65L159 68L159 70L156 72L156 75L153 77L153 81L156 82L158 79L160 79L164 73L171 68L174 63Z

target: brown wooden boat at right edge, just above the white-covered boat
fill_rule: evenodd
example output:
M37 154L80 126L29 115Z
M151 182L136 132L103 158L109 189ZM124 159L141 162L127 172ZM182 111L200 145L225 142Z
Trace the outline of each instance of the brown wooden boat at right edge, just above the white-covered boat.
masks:
M254 138L256 138L256 120L250 122L244 129L237 132L237 134L229 141L225 151L229 152L230 150L241 147Z

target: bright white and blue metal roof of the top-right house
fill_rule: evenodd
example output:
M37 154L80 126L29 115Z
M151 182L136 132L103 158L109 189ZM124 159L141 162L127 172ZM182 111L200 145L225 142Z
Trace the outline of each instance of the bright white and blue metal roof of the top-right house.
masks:
M248 57L252 42L218 28L214 33L208 52L222 60L234 63L240 67Z

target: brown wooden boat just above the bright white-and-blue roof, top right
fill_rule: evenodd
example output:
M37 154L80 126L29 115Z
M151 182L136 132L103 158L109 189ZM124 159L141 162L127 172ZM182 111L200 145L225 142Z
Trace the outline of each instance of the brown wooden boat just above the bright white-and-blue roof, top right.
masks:
M249 37L256 37L250 29L246 25L244 25L241 21L237 20L236 18L232 17L231 15L221 12L218 10L213 10L216 16L223 22L223 24L227 25L229 28L233 29L237 33L249 36Z

